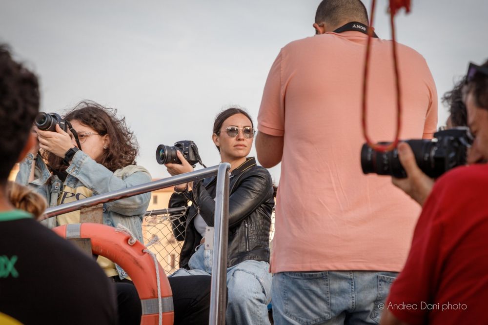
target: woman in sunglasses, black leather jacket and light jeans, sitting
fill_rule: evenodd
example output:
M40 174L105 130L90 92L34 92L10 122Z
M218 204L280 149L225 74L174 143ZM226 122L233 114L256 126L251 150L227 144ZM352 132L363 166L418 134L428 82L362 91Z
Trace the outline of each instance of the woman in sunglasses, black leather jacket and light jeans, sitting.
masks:
M240 108L221 112L214 122L212 140L221 161L230 163L229 241L227 256L227 324L269 324L271 298L269 230L274 206L269 172L247 157L254 138L251 117ZM166 164L171 175L193 170L183 155L182 164ZM212 273L216 177L175 186L169 207L189 206L173 221L176 239L184 241L180 269L172 277Z

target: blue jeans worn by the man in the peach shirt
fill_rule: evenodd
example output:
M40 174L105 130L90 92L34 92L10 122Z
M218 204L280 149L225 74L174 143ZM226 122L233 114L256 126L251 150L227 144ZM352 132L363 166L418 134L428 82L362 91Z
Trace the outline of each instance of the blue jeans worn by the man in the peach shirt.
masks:
M274 324L379 324L396 272L322 271L273 275Z

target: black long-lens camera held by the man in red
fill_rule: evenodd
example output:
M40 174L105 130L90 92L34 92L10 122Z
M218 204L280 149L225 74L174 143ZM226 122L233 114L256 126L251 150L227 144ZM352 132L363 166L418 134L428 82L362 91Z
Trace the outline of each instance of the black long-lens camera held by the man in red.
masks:
M473 139L467 127L457 127L434 133L432 140L407 140L419 168L431 178L437 178L457 166L466 164L467 149ZM391 142L380 142L389 144ZM361 149L363 173L406 178L407 173L398 158L397 148L377 152L366 143Z

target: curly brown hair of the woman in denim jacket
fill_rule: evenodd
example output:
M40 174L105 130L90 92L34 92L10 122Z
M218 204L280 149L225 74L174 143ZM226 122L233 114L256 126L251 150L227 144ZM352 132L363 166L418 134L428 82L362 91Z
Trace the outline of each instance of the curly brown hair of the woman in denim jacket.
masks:
M117 117L117 109L104 107L92 101L83 101L68 111L64 119L77 120L91 127L101 136L108 134L110 138L108 148L103 151L102 158L97 163L111 171L136 164L139 145L134 132L125 123L125 118ZM49 167L53 170L62 171L67 168L62 163L61 157L50 152L44 152L43 158L47 160Z

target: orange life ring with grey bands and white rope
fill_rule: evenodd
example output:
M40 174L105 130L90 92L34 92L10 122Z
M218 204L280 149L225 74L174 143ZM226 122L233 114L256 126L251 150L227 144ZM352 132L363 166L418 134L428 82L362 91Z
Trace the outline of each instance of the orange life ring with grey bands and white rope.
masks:
M116 232L115 228L100 223L72 223L53 229L63 238L91 239L94 254L102 255L119 264L134 282L141 298L141 325L157 325L159 322L158 285L153 258L143 252L141 242L129 245L128 234ZM173 325L173 295L168 278L158 263L162 298L163 324Z

